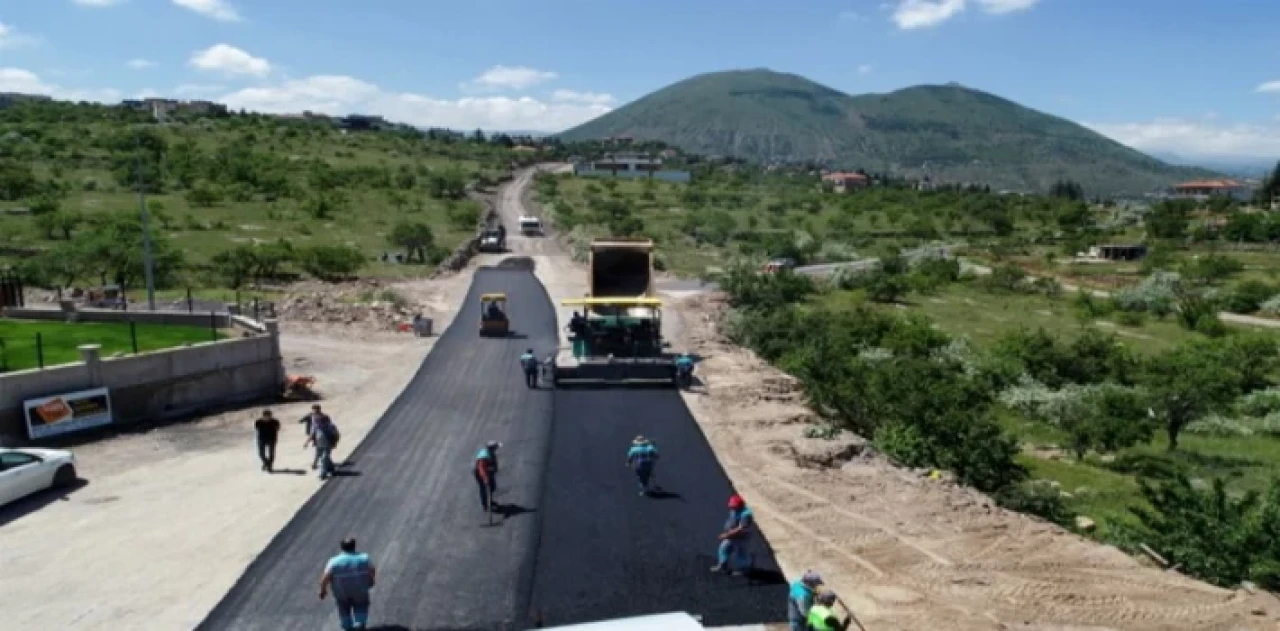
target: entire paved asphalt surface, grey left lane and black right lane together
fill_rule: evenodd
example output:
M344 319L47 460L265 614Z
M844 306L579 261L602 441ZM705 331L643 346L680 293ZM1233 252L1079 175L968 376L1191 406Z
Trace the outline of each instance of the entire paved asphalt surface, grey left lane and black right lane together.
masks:
M488 292L508 294L515 339L477 338ZM557 343L543 287L526 270L481 269L466 301L346 475L325 483L200 628L337 628L316 590L344 536L379 568L372 628L498 631L672 611L708 625L781 621L785 587L763 539L753 545L762 572L708 571L732 490L680 395L529 390L517 356ZM666 497L639 497L625 467L637 433L662 451ZM511 507L494 527L470 476L489 439L504 443L497 500Z

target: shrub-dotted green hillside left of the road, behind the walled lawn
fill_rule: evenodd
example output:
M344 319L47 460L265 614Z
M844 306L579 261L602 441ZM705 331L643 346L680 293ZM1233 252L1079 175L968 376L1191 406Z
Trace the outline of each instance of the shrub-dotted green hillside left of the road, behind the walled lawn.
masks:
M530 159L509 145L266 115L161 125L122 108L15 104L0 109L0 264L20 264L37 284L138 287L141 175L161 287L412 273L378 261L411 252L434 264L471 237L481 209L467 189Z

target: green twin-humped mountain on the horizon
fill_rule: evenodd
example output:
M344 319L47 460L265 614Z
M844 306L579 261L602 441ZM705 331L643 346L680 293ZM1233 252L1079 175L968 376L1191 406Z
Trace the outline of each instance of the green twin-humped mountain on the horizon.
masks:
M1142 195L1212 172L1172 166L1082 125L959 84L850 96L765 69L700 74L559 134L631 136L703 155L818 161L995 189L1069 178L1093 195Z

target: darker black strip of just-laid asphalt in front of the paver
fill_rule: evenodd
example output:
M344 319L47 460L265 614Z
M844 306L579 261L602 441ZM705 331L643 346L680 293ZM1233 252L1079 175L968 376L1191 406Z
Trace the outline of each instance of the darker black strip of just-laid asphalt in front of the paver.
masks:
M636 434L658 447L662 493L626 467ZM709 571L733 493L675 390L556 392L532 608L547 625L689 612L707 626L783 622L786 586L755 534L756 571Z

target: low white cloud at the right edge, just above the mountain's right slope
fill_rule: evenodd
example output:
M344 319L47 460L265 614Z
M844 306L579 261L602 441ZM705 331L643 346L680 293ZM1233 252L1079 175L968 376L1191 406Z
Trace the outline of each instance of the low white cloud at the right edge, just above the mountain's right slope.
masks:
M1212 119L1156 119L1147 123L1084 123L1085 127L1140 151L1188 157L1280 156L1276 124L1216 124Z

